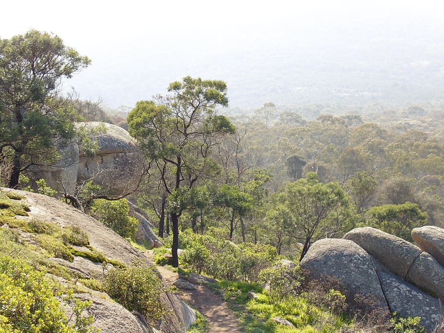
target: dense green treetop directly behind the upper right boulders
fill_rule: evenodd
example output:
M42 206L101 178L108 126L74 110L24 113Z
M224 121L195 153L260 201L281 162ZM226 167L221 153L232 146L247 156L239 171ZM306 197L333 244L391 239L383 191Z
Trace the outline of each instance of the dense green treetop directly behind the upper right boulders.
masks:
M371 226L410 242L413 241L412 229L421 227L427 222L427 214L418 204L411 202L371 207L368 213Z

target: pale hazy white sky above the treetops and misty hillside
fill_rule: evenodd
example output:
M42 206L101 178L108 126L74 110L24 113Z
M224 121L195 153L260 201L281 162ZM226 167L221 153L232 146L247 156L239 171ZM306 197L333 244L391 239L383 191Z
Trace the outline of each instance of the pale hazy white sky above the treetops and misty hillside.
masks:
M29 29L60 36L92 59L64 87L73 86L82 99L102 98L114 108L164 93L169 82L186 75L225 80L232 106L251 107L251 100L261 105L281 95L275 90L267 95L258 82L254 89L262 95L247 96L254 89L244 82L251 86L257 78L279 86L282 79L288 84L282 75L267 72L267 64L285 73L279 62L287 64L295 54L292 61L306 66L313 55L323 57L323 64L330 58L337 64L337 50L345 47L351 54L354 45L362 49L384 37L396 43L418 32L415 38L436 34L440 40L443 17L444 1L426 0L20 0L2 3L0 38ZM402 47L397 56L401 52ZM428 61L423 58L409 61Z

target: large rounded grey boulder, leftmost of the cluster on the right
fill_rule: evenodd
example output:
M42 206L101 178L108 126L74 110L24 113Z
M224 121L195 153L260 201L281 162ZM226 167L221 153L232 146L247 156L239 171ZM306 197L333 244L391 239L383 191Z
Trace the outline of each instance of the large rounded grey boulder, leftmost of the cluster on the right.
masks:
M340 291L347 301L352 301L355 294L364 297L370 294L375 299L375 308L387 307L370 255L351 240L324 238L316 241L300 267L307 272L308 280L322 280L325 276L339 279L343 289Z

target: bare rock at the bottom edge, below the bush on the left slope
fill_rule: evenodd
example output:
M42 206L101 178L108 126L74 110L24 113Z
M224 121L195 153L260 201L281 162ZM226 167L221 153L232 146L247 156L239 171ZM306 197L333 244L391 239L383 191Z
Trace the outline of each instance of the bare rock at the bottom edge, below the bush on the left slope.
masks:
M99 328L101 333L153 333L149 326L144 325L137 316L134 316L119 303L92 294L74 294L74 297L82 301L92 301L88 314L94 315L92 325ZM72 309L69 306L65 306L64 309L69 318ZM71 318L71 321L73 320L74 318Z

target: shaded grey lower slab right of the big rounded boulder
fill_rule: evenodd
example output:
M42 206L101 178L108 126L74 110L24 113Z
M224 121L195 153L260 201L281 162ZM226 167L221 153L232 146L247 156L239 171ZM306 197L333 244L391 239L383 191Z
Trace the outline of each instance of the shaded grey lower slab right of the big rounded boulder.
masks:
M396 311L404 317L421 316L421 325L427 332L432 332L439 320L439 300L423 293L394 274L378 272L378 276L390 311Z

